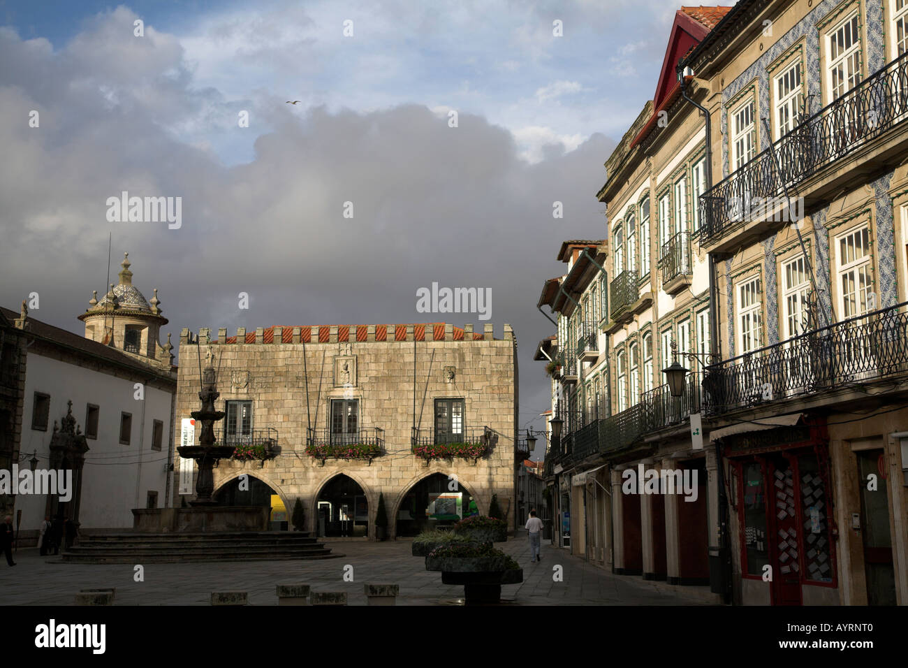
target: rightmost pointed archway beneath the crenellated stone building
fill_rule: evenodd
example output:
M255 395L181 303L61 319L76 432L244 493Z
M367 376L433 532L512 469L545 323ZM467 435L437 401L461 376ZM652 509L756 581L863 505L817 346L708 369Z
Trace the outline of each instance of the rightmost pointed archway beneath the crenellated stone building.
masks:
M458 522L470 513L471 501L479 499L470 492L471 486L458 477L452 489L449 474L429 471L414 477L405 486L394 503L390 522L394 537L414 536L433 527Z

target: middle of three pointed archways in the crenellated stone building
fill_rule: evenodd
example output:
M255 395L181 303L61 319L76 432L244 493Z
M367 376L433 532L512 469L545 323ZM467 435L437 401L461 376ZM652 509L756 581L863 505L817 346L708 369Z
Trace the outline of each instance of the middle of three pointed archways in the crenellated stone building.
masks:
M315 535L328 538L368 537L371 499L356 476L336 472L321 482L312 503Z

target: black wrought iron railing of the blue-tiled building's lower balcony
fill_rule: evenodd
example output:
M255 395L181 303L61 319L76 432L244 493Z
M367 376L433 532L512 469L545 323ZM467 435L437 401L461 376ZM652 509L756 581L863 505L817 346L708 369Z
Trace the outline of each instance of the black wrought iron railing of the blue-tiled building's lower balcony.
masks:
M705 410L721 414L897 374L908 374L908 302L706 367Z

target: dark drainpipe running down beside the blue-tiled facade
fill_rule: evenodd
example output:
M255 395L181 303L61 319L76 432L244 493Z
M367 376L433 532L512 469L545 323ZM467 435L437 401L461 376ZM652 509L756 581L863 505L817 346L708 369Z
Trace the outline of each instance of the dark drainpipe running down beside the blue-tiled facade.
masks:
M680 64L679 64L680 65ZM706 193L708 193L713 188L713 145L712 145L712 124L711 117L709 115L709 110L705 106L700 105L699 103L692 100L688 95L685 88L685 72L689 71L689 68L681 68L679 66L677 70L678 74L678 84L681 86L681 96L684 97L687 102L691 105L696 106L699 109L706 120L706 148L704 152L706 163ZM693 74L691 72L691 74ZM721 352L719 346L719 319L718 319L718 279L716 276L716 256L712 253L708 254L709 256L709 352L711 362L714 364L718 363ZM725 464L722 462L722 446L716 442L716 477L718 484L718 510L719 510L719 535L718 538L718 550L716 558L720 560L721 573L719 574L719 582L711 582L711 589L714 593L722 593L725 602L728 602L728 595L731 584L731 553L729 552L728 547L728 499L725 497ZM710 551L712 552L712 551ZM712 555L711 557L712 558ZM710 578L712 580L712 578Z

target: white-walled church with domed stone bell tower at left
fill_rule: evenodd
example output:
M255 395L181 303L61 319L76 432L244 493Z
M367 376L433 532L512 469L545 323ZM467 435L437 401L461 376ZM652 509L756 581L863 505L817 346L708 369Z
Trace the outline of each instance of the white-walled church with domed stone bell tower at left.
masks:
M79 315L84 335L0 309L26 337L22 423L14 457L20 471L72 471L74 490L16 494L20 546L35 544L45 515L81 533L133 526L133 508L163 507L172 497L173 346L159 343L167 324L157 290L149 302L133 285L128 254L119 283ZM7 504L7 507L8 504Z

